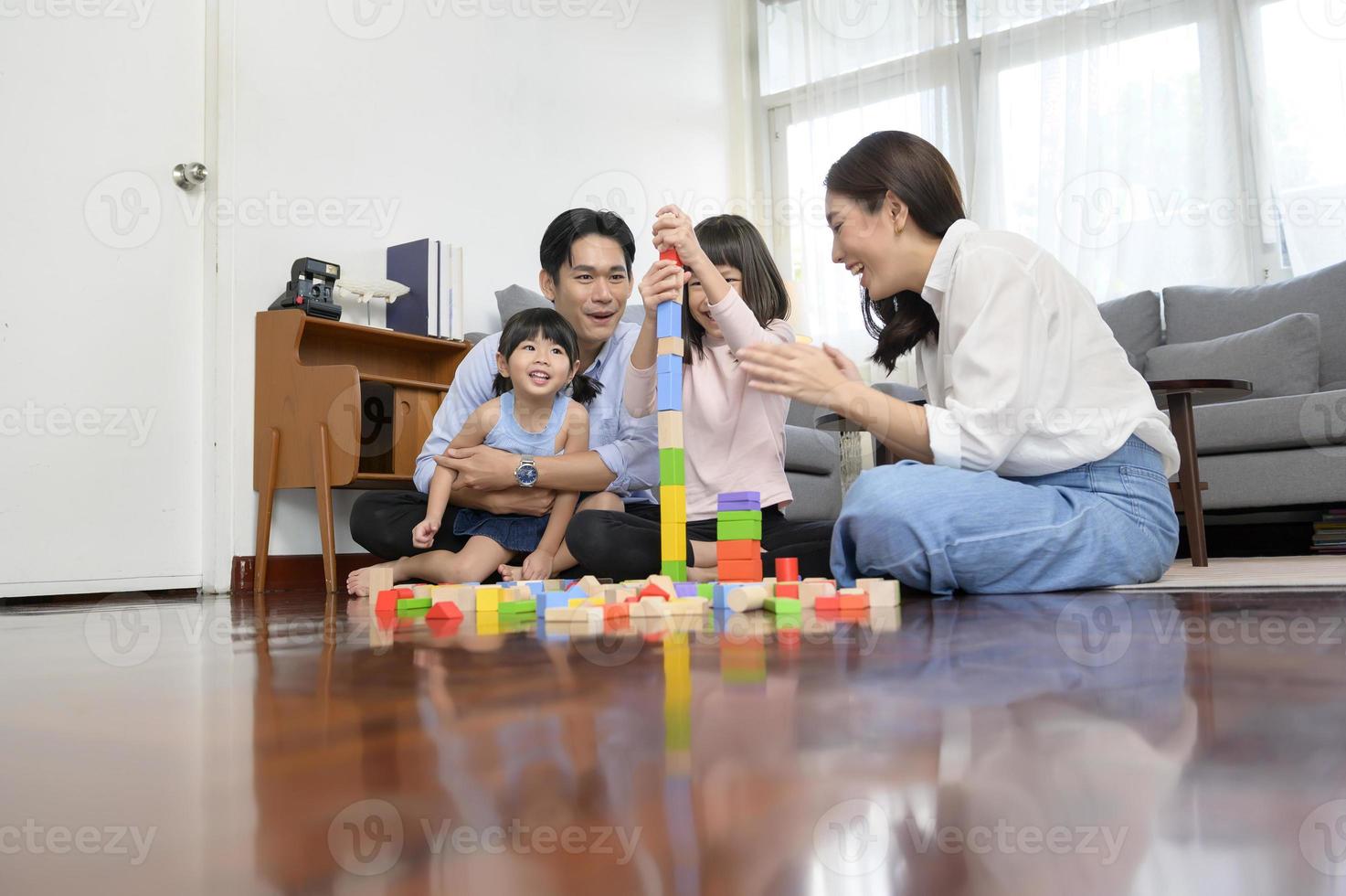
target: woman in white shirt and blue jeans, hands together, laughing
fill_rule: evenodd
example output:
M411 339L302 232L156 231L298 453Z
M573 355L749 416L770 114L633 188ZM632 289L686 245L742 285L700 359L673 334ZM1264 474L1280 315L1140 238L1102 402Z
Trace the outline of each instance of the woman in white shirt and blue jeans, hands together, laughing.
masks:
M870 135L825 186L872 357L891 371L914 350L929 397L864 385L830 348L740 353L756 388L826 406L905 458L847 493L837 579L1004 593L1163 575L1178 445L1084 286L1030 240L966 221L949 162L910 133Z

